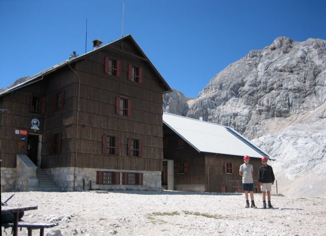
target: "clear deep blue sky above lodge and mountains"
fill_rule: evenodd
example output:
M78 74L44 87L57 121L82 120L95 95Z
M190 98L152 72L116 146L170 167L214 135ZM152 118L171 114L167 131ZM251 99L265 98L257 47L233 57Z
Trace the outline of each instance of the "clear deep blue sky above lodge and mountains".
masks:
M94 39L131 34L169 85L197 97L210 80L277 37L326 39L324 0L0 0L0 88L56 65Z

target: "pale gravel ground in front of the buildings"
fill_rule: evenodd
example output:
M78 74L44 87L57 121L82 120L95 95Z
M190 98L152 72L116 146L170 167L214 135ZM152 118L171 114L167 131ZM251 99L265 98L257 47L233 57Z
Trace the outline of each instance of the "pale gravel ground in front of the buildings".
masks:
M245 208L241 193L4 192L2 200L13 193L9 204L38 205L24 221L58 222L52 229L65 236L326 235L326 198L320 197L273 195L274 209L261 208L261 194L255 194L257 209Z

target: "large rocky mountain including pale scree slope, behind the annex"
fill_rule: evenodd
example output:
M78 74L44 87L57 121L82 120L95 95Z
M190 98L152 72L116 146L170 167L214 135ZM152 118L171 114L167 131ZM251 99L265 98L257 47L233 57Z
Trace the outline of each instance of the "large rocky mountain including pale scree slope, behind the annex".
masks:
M284 193L326 196L325 102L326 41L279 37L217 74L186 116L233 127L275 157Z

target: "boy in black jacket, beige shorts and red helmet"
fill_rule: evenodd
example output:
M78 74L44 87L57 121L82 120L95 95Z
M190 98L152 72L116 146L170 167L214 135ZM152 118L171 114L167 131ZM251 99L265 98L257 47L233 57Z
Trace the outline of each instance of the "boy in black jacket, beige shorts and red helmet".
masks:
M266 208L266 192L267 192L267 201L268 208L273 208L270 203L270 191L272 190L272 184L274 184L275 176L273 168L270 165L267 165L267 157L263 156L261 158L262 165L258 170L258 182L260 184L260 190L262 191L263 197L263 208Z

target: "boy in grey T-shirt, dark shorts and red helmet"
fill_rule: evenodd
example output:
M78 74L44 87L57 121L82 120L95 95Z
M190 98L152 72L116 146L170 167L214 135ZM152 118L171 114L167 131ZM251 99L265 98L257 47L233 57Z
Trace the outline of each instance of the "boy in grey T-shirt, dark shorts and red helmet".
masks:
M244 163L240 165L239 174L242 176L242 189L245 192L246 197L246 208L249 207L249 197L248 192L250 192L251 207L257 208L254 201L254 180L252 178L253 167L252 164L249 164L250 157L245 155L243 157Z

